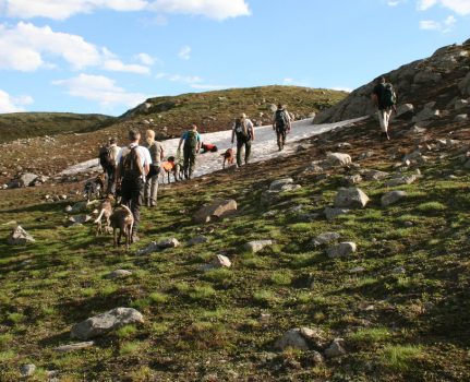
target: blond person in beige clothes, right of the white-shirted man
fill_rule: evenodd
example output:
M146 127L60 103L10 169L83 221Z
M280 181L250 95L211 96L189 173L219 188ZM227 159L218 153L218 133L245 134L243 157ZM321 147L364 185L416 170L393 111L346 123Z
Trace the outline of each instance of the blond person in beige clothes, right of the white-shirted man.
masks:
M147 147L150 153L152 165L145 180L144 199L147 207L154 207L157 205L158 176L160 174L161 160L164 159L165 153L161 143L155 141L154 130L147 130L145 132L145 147Z

